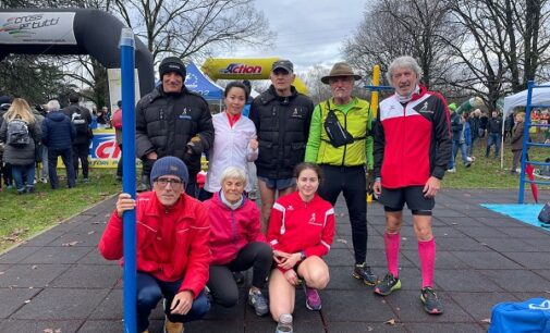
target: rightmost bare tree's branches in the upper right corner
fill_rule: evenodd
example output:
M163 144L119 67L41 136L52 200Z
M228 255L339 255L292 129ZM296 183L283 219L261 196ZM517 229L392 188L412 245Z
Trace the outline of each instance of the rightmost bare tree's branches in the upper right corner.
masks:
M452 48L450 85L480 96L493 108L508 92L525 89L548 66L547 0L449 0L460 38Z

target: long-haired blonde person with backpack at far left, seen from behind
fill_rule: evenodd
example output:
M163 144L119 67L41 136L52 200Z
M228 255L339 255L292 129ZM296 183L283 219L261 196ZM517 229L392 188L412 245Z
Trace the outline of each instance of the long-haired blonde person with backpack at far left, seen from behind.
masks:
M0 141L4 143L3 160L10 163L17 194L33 193L35 182L36 146L40 140L40 127L30 111L30 106L23 98L13 99L3 115L0 127ZM13 124L11 124L13 122ZM14 133L15 123L25 133ZM15 135L20 135L15 138ZM12 138L13 137L13 138ZM20 140L21 139L21 140ZM24 143L23 143L24 141Z

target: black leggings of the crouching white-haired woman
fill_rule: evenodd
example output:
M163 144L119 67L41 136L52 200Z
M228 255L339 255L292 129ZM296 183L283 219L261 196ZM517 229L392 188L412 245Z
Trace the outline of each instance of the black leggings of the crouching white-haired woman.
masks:
M271 269L273 251L266 243L253 242L246 244L236 258L227 264L210 264L210 280L207 285L213 301L232 307L239 301L239 287L232 272L245 271L253 267L252 285L264 287Z

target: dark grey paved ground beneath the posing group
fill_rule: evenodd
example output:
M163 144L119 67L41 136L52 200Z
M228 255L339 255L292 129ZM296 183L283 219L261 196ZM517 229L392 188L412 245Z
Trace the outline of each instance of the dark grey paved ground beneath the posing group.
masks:
M436 288L445 313L426 314L418 300L417 243L406 215L400 268L402 289L382 298L351 278L351 229L343 201L337 205L338 234L327 261L331 282L321 292L322 311L305 309L297 292L295 332L485 332L491 307L500 301L550 297L550 232L491 212L478 203L510 203L515 192L444 190L435 213ZM107 200L0 255L0 332L122 332L121 269L103 260L96 245L113 208ZM383 210L368 210L368 260L386 272ZM246 283L249 283L249 274ZM162 332L154 313L150 332ZM394 320L395 324L384 323ZM213 306L185 332L274 332L242 301Z

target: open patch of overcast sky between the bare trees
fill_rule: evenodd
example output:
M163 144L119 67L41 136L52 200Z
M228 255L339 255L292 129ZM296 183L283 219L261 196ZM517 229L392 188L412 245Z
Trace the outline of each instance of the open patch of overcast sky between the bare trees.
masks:
M364 0L256 0L277 40L272 49L237 48L231 57L279 57L294 63L295 71L343 60L342 41L362 21Z

